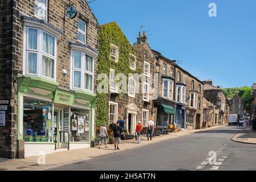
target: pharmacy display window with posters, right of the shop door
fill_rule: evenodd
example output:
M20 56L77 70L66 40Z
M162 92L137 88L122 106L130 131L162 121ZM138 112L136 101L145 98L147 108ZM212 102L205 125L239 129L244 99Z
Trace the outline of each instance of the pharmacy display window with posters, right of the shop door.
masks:
M90 110L71 107L70 111L70 142L90 142Z

